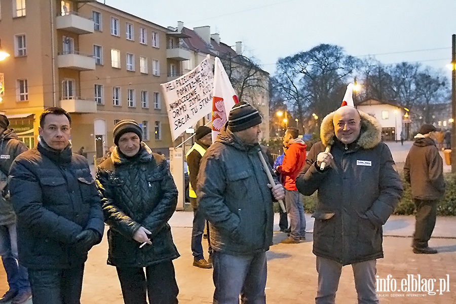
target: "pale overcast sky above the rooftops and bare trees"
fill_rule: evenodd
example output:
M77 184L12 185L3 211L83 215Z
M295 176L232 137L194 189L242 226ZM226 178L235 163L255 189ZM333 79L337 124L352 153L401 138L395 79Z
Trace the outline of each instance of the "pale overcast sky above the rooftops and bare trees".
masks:
M221 41L242 41L247 56L274 73L278 58L335 44L383 63L451 61L456 0L98 0L162 26L209 25Z

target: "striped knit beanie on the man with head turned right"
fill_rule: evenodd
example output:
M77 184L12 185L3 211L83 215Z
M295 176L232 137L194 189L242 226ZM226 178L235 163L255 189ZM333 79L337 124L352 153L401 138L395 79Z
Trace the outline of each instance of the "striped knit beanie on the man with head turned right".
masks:
M228 127L232 132L242 131L261 124L261 116L250 104L240 101L235 104L228 116Z

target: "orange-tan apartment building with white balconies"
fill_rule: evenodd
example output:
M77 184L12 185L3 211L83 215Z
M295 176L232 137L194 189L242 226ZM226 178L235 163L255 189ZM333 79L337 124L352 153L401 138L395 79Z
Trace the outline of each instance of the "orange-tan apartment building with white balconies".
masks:
M73 149L84 146L89 160L113 144L122 119L136 120L144 142L169 154L160 84L190 59L179 33L91 0L0 0L0 12L2 47L11 54L0 63L0 111L29 147L41 112L61 106L71 116Z

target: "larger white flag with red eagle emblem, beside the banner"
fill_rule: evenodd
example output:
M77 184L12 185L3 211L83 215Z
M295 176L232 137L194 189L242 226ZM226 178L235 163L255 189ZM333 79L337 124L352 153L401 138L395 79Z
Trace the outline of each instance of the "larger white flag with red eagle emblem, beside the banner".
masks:
M212 142L228 121L233 106L239 102L230 79L218 57L215 57L214 91L212 94Z

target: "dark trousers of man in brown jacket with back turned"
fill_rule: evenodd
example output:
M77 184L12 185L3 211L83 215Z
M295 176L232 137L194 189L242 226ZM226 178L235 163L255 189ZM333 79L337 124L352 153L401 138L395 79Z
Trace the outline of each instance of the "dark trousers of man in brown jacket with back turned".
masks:
M413 199L416 208L413 247L428 247L437 218L437 201Z

